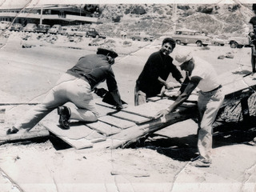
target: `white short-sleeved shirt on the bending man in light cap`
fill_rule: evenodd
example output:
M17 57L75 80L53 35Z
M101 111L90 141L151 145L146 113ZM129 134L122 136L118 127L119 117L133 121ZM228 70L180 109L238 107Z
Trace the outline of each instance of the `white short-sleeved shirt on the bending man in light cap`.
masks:
M202 78L202 80L198 83L198 89L202 90L202 92L207 92L210 90L216 89L220 86L220 82L218 81L218 75L214 70L214 67L210 65L209 62L202 60L201 58L194 58L194 69L190 74L189 78L194 76Z

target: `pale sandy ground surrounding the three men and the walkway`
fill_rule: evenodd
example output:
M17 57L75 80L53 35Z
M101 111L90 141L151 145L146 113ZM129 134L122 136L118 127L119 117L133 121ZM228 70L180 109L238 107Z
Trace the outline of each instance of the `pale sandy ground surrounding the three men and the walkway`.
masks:
M77 42L61 36L50 39L32 35L22 40L18 33L1 39L1 103L42 101L63 72L97 48L88 46L92 41L89 38L76 39ZM135 81L148 56L160 48L162 39L131 42L131 46L123 45L125 41L110 41L120 54L113 68L122 99L134 105ZM250 48L177 46L171 55L185 49L212 63L218 74L241 65L250 66ZM218 59L226 53L234 58ZM0 134L30 107L2 106L6 108L6 122L0 125ZM190 158L197 155L196 133L196 123L187 120L126 149L59 150L62 143L56 138L5 144L0 146L0 191L256 191L256 150L255 146L246 145L255 135L254 130L215 135L210 168L189 164Z

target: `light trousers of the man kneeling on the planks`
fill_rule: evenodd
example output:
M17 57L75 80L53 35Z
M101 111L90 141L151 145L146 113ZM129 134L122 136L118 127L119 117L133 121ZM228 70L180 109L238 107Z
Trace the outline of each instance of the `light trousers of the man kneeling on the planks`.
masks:
M82 78L70 74L62 74L44 98L43 102L34 106L14 126L17 129L32 129L38 122L58 106L66 102L74 103L77 108L72 108L70 119L82 122L94 122L98 119L98 112L92 95L90 84Z

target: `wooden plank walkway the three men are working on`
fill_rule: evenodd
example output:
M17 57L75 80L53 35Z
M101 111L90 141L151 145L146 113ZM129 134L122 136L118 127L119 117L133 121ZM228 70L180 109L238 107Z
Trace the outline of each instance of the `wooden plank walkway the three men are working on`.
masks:
M255 92L256 79L247 75L249 72L249 70L240 68L220 76L222 90L226 95L222 107L243 98L248 98L250 94ZM70 122L70 130L62 130L56 123L58 122L58 114L54 113L51 117L54 122L46 121L43 126L77 150L84 148L114 149L136 142L139 138L170 126L175 122L196 117L197 98L197 94L191 94L190 98L182 106L178 107L174 113L158 119L154 119L155 114L159 110L164 110L170 106L174 102L173 100L168 97L150 98L150 102L146 104L128 106L121 111L114 110L113 106L97 100L96 104L100 112L98 122ZM15 136L6 137L11 140L11 137ZM4 141L5 139L2 138L1 140Z

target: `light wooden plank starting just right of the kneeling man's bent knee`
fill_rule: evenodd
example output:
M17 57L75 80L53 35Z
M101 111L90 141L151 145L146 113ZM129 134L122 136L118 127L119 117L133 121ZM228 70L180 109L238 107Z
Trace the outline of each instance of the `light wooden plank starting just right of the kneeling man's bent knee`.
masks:
M121 118L115 118L112 116L104 116L101 118L98 118L101 122L106 122L107 124L110 124L111 126L117 126L120 129L127 129L130 126L135 126L136 124L134 122L126 121Z

